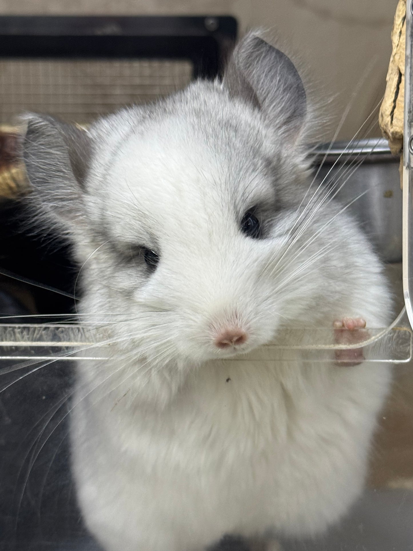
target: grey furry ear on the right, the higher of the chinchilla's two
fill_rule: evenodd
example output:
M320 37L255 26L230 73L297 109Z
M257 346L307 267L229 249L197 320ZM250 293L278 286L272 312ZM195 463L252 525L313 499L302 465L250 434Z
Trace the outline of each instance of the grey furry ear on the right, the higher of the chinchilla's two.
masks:
M233 97L258 107L288 142L296 141L307 113L306 92L284 53L248 34L233 51L224 85Z

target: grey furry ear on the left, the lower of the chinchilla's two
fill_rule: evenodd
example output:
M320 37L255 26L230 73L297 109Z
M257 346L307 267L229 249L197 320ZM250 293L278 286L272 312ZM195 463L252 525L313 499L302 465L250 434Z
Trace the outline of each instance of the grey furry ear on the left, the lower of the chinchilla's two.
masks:
M88 132L53 117L22 117L22 157L37 215L71 233L84 221L84 180L92 149Z

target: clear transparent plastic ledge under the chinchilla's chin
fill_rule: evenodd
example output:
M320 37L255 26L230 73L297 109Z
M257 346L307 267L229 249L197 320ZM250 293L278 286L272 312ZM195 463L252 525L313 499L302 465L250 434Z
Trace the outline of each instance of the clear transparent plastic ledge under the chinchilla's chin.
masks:
M127 335L129 323L117 323L124 325ZM413 332L404 309L387 328L293 328L281 331L274 342L221 361L291 361L301 351L300 358L306 361L406 363L412 358L412 342ZM0 360L74 358L105 360L121 356L113 350L112 340L102 325L0 325Z

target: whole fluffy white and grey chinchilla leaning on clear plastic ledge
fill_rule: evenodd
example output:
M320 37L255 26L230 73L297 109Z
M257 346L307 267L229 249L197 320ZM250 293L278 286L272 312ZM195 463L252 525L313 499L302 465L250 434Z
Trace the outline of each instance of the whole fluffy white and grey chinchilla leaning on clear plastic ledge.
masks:
M391 317L355 220L306 194L311 121L289 58L249 34L222 82L88 131L27 120L32 201L73 242L82 319L128 320L106 328L113 359L78 360L72 463L90 531L110 551L200 551L224 534L270 549L269 534L338 521L362 491L388 366L300 351L221 363L291 327Z

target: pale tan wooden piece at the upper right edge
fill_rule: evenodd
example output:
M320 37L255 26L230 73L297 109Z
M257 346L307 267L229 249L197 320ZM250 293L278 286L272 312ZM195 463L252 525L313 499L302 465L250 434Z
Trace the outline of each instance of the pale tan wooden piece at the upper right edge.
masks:
M379 125L393 154L400 154L403 149L405 20L406 0L399 0L392 30L387 85L379 112Z

